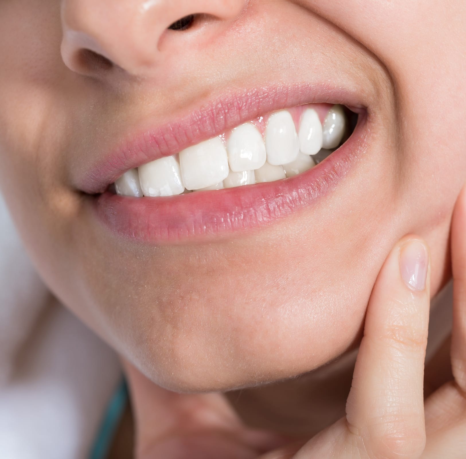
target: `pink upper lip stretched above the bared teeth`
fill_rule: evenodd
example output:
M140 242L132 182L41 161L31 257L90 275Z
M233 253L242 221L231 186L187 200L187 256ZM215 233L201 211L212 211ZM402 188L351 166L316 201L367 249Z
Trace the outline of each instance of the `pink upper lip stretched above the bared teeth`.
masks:
M102 193L132 168L174 155L268 112L304 103L340 103L353 109L367 106L355 91L323 84L231 90L208 102L203 101L197 109L155 128L153 122L146 120L136 132L126 134L103 157L94 155L96 159L77 178L77 188L89 194Z

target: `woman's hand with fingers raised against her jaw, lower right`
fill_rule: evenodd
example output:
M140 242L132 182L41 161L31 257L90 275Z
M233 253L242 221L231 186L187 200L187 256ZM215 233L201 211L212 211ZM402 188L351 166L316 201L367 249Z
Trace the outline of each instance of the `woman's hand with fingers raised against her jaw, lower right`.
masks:
M451 239L453 380L424 401L430 263L423 243L406 237L372 291L346 417L301 448L260 459L466 458L466 187L455 206Z

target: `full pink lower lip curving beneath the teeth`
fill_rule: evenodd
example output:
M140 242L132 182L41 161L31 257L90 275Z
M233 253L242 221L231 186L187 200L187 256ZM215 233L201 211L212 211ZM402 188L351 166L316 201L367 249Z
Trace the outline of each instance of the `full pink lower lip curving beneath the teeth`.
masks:
M308 209L336 188L365 149L365 118L359 116L353 134L338 150L292 178L166 198L104 192L91 196L91 205L110 232L145 243L212 240L269 226Z

